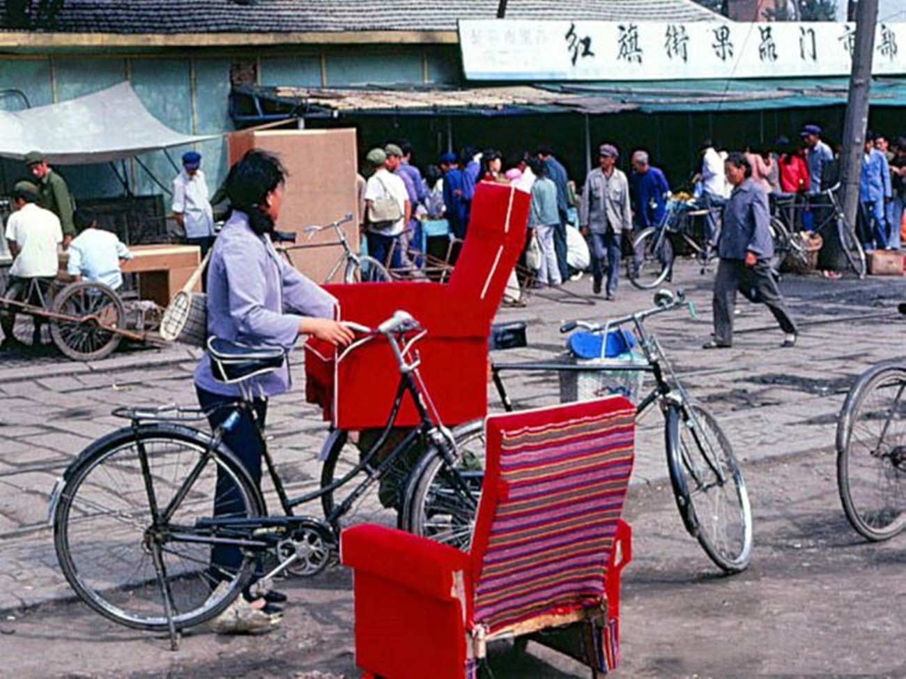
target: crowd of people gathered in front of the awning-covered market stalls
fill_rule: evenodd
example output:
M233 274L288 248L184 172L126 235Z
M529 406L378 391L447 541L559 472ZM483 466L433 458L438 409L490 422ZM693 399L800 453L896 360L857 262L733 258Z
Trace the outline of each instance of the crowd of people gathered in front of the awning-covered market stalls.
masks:
M773 144L756 143L740 150L753 182L773 205L776 197L798 204L797 229L814 229L822 192L839 182L839 147L823 139L821 126L811 123L799 131L801 143L778 137ZM726 209L734 189L727 178L727 150L702 141L695 198L708 208L704 241L708 253L718 247L717 215ZM393 268L423 262L426 223L445 222L455 238L465 238L472 197L478 182L510 183L532 195L521 270L529 270L529 285L560 286L588 271L593 295L613 299L619 286L622 256L628 241L642 228L663 223L670 182L647 150L636 149L626 172L620 150L612 143L598 148L598 167L584 181L571 179L549 146L534 153L505 156L495 149L466 147L443 153L424 174L412 162L406 141L369 151L371 179L360 176L361 227L372 255ZM395 202L392 212L384 210ZM899 249L906 230L906 139L869 132L860 179L858 236L866 250ZM377 211L375 209L377 208ZM390 219L388 217L392 217ZM581 234L581 235L580 235ZM430 240L430 239L428 239ZM455 252L454 257L455 260ZM525 285L525 277L521 281ZM522 305L516 279L507 287L505 304Z

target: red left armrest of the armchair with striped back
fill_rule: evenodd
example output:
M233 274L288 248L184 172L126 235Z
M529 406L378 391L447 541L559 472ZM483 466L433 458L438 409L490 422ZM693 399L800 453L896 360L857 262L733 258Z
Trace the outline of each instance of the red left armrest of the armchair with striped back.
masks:
M424 597L455 598L454 573L466 573L468 555L428 538L374 524L342 531L344 566L380 577Z

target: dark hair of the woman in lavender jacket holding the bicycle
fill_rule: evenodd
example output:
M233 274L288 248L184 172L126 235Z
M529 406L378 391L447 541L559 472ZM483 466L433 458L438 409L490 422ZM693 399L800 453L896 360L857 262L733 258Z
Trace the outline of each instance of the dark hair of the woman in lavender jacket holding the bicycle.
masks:
M274 220L265 213L268 193L286 181L288 173L280 159L263 150L250 150L226 175L226 196L230 208L245 212L249 225L259 236L274 230Z

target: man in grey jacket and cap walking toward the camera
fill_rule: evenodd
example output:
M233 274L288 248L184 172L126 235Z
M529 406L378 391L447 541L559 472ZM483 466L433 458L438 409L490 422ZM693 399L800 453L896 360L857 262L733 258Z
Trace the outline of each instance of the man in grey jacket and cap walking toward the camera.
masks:
M601 293L606 270L607 299L617 294L622 233L632 233L629 181L616 167L619 155L612 144L601 145L601 167L588 173L579 204L579 227L589 237L592 250L592 289L595 295Z

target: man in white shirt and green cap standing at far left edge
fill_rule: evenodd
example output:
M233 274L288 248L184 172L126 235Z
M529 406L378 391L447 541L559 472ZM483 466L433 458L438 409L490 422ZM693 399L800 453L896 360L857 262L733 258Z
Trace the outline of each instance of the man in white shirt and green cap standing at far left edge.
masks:
M6 222L6 244L13 255L9 284L4 296L35 306L45 306L51 283L59 269L57 249L63 243L60 218L37 205L38 189L31 182L17 182L13 191L15 212ZM32 344L41 342L41 319L34 318ZM13 334L15 309L0 315L3 328L2 348L21 344Z

